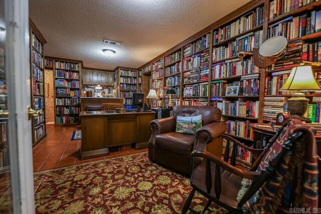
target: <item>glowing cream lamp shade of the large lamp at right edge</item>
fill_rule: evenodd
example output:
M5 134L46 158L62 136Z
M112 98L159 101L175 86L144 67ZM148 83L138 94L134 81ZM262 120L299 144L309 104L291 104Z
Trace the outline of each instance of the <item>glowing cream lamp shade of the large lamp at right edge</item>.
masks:
M311 66L293 67L280 91L319 91Z

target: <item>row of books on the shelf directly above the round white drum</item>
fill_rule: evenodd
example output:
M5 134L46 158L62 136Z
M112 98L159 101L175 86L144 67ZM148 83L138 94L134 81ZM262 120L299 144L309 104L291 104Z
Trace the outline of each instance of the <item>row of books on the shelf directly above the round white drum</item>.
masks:
M284 36L288 40L313 34L321 31L321 11L311 11L299 17L288 17L280 22L270 25L268 38Z

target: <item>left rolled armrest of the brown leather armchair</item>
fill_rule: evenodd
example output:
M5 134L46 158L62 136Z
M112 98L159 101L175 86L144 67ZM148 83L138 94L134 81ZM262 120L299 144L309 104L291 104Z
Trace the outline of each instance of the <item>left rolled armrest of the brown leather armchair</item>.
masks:
M175 131L176 120L174 117L167 117L157 120L152 120L149 124L151 131L156 134L164 134Z

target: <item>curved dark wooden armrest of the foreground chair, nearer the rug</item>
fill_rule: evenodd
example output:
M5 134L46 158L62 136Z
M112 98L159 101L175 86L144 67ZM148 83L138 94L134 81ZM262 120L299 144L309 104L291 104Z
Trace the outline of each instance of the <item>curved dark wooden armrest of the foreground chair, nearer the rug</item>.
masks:
M221 166L223 169L225 169L233 174L236 174L240 177L243 177L243 178L257 180L261 175L260 172L242 170L242 169L239 169L235 166L232 166L232 165L228 164L227 162L221 160L221 158L218 158L217 156L211 154L208 151L193 151L191 155L194 157L202 157L202 158L208 159L208 160L214 162L215 164Z

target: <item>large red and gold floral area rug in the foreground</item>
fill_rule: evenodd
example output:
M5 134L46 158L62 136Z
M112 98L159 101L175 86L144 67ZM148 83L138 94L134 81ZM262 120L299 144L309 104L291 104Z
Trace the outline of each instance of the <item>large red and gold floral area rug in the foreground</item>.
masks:
M181 213L190 180L148 160L147 152L34 174L36 213ZM207 199L196 193L201 211ZM207 213L225 213L212 203Z

